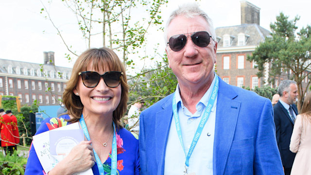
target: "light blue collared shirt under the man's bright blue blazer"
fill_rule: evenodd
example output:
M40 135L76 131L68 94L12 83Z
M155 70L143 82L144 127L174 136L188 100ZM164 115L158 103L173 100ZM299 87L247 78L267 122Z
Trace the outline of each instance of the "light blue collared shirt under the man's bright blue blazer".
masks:
M215 77L210 87L214 86ZM191 114L191 112L183 105L182 99L180 97L179 85L177 85L175 97L185 150L183 150L180 144L175 122L174 120L172 120L165 152L164 175L184 174L186 161L185 152L188 153L189 151L191 141L194 137L196 129L198 128L202 115L204 114L209 96L211 95L211 91L212 88L209 88L207 90L202 99L196 104L197 111L194 114ZM195 175L213 175L213 145L215 133L216 104L217 97L211 109L207 123L202 131L202 135L198 140L190 157L188 174L194 172Z

